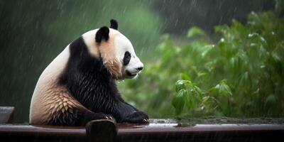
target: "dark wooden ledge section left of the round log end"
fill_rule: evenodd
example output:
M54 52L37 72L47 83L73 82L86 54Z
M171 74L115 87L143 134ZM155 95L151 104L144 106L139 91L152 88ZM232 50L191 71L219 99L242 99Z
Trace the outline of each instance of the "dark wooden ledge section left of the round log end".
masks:
M87 141L84 127L0 125L0 141Z

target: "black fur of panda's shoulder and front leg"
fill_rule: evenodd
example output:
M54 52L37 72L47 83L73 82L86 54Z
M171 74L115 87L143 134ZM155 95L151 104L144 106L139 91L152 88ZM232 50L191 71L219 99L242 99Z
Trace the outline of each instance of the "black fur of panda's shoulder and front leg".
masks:
M147 123L145 113L124 102L102 58L88 53L82 37L70 44L70 58L59 83L94 113L110 114L117 122Z

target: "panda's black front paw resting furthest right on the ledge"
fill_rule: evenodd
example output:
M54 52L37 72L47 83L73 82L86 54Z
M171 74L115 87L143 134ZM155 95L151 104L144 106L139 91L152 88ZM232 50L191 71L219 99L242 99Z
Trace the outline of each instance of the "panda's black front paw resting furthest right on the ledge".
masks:
M133 114L124 119L124 122L133 123L133 124L148 124L149 117L143 111L136 111Z

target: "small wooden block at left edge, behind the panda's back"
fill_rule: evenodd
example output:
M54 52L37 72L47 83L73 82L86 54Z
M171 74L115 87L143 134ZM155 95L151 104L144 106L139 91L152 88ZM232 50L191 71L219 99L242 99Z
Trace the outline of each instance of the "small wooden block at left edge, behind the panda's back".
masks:
M0 124L11 124L13 122L14 107L0 107Z

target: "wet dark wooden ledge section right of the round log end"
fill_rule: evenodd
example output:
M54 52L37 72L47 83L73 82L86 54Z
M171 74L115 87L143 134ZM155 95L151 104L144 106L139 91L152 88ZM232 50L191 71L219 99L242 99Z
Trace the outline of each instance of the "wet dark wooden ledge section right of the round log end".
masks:
M150 124L120 126L116 141L282 141L283 135L279 124Z

